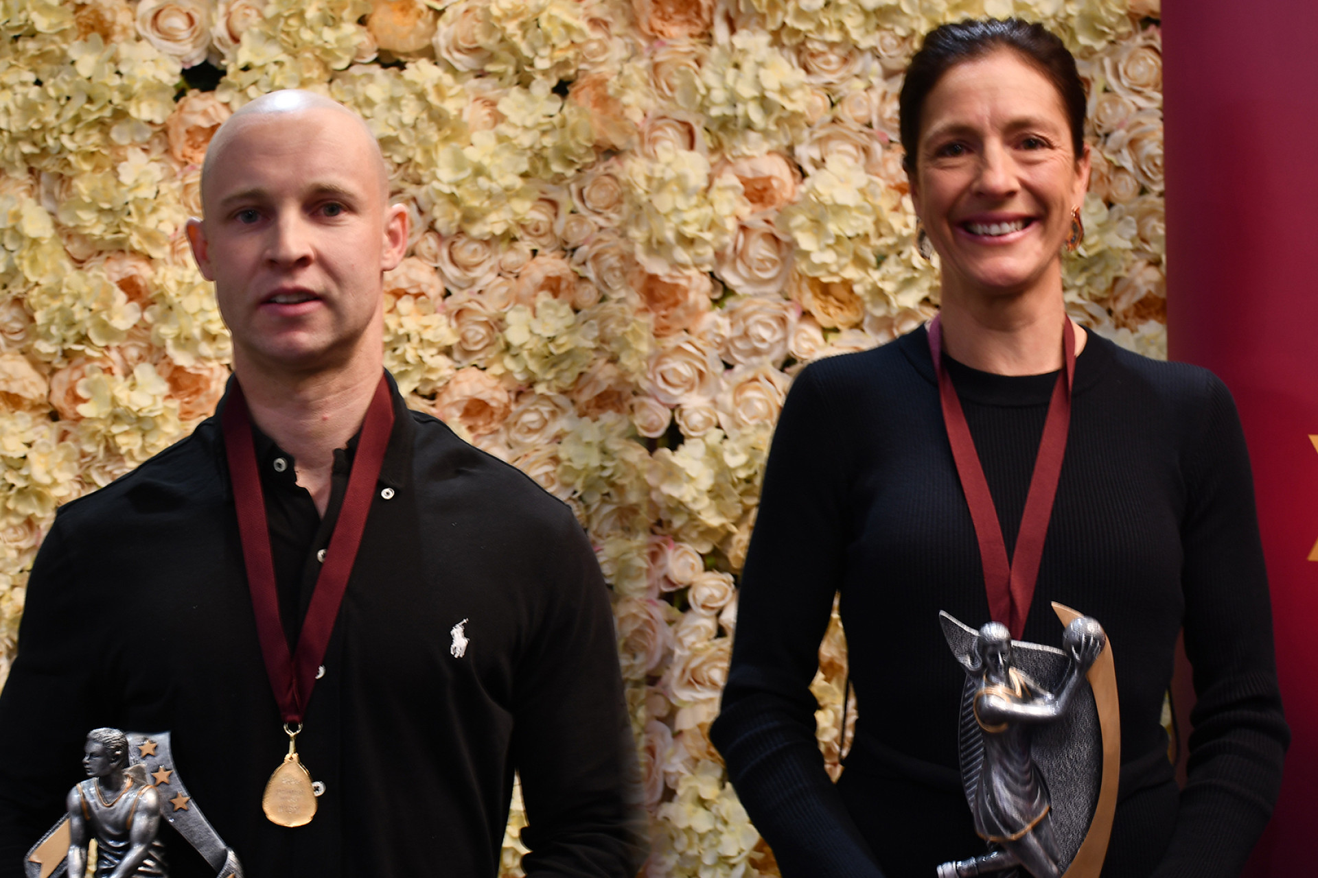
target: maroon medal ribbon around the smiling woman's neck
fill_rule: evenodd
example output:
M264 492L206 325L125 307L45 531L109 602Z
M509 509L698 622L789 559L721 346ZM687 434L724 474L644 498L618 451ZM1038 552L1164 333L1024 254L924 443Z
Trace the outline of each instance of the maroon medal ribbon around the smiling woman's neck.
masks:
M1011 636L1020 640L1025 631L1025 617L1035 599L1035 582L1039 579L1039 561L1044 554L1044 538L1048 536L1048 521L1053 515L1053 498L1057 496L1057 482L1062 474L1062 458L1066 454L1066 434L1070 429L1072 384L1075 380L1075 336L1069 319L1062 323L1062 362L1064 369L1053 384L1053 395L1048 401L1048 417L1044 421L1044 434L1039 440L1039 454L1035 457L1035 471L1029 477L1029 492L1025 495L1025 511L1020 516L1020 532L1016 536L1016 549L1007 561L1007 542L1002 536L998 508L994 505L988 482L985 479L979 453L970 437L970 425L961 408L961 398L952 386L952 376L942 367L942 325L941 316L929 323L929 354L933 357L933 371L938 376L938 400L942 404L942 421L952 442L952 457L957 463L961 488L970 507L970 519L975 525L975 538L979 541L979 559L985 571L985 591L988 594L988 613L1011 629Z

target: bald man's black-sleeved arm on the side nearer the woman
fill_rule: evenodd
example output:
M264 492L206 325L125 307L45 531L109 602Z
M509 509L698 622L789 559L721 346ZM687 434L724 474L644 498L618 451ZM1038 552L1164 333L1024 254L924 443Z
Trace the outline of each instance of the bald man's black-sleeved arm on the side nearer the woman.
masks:
M609 591L565 511L547 550L551 594L514 683L513 760L531 849L522 867L532 878L633 878L646 819Z

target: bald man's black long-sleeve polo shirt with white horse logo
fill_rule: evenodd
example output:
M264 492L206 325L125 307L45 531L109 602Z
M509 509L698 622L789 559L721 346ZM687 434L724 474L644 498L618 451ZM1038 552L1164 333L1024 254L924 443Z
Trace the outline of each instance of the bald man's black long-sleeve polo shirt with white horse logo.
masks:
M0 694L0 877L22 874L100 725L173 732L178 771L249 878L494 875L514 770L529 874L635 874L635 754L608 590L580 525L397 390L394 413L298 738L326 785L315 819L286 829L261 811L287 737L216 416L63 507L41 548ZM283 455L262 438L281 612L301 620L351 454L336 455L320 523L291 458L277 471ZM452 649L464 620L465 650ZM214 874L167 835L175 878Z

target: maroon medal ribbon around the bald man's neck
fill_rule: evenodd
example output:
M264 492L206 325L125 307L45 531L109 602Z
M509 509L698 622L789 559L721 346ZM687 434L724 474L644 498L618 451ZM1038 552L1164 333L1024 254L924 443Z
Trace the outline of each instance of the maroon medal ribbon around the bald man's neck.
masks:
M270 688L279 703L285 723L302 723L316 682L316 670L330 646L339 606L348 588L348 577L357 558L361 534L366 528L366 513L376 494L380 467L385 462L389 433L394 425L394 407L389 383L384 375L376 395L366 408L361 426L348 490L344 492L339 520L326 552L324 563L316 577L311 604L307 607L295 653L289 652L289 641L279 619L279 598L274 581L274 558L270 553L270 529L265 517L265 495L257 474L256 446L252 441L252 416L241 386L224 405L224 453L233 482L233 502L239 515L239 537L243 542L243 561L246 566L252 609L256 612L256 631L261 640L265 670Z

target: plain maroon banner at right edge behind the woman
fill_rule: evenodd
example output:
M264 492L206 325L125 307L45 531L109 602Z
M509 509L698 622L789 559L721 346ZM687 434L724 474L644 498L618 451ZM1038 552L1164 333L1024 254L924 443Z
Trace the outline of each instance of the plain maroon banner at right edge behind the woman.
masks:
M1168 341L1231 388L1293 742L1247 871L1311 874L1318 807L1318 3L1165 0Z

